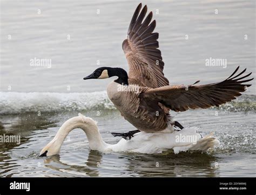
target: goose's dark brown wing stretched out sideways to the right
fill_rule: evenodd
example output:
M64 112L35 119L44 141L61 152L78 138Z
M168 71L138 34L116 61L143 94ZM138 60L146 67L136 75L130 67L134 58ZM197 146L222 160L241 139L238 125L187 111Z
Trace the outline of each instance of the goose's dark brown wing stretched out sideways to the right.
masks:
M253 78L247 80L242 79L247 78L252 73L242 75L246 71L246 69L244 69L244 71L235 75L238 69L239 66L230 77L222 82L208 85L194 85L199 82L197 81L189 86L171 85L156 89L148 88L141 95L144 101L152 101L152 99L157 100L176 112L183 112L189 108L196 109L219 106L240 96L241 92L245 92L247 87L251 86L243 83L251 81Z

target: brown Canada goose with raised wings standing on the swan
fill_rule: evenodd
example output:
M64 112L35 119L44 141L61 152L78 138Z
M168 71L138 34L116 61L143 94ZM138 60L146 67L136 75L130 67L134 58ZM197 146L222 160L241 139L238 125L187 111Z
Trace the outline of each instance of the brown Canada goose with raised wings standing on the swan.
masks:
M169 85L163 73L164 62L158 46L158 33L153 32L156 20L152 12L146 16L147 6L142 11L140 3L133 14L123 50L129 65L129 75L122 68L100 67L84 79L118 78L107 86L107 95L124 118L138 130L114 136L129 137L139 131L173 132L175 122L169 110L184 112L187 109L209 108L232 101L247 87L242 80L250 74L237 73L239 66L226 80L208 85ZM140 13L139 13L140 12ZM145 19L144 19L145 18ZM144 20L143 20L144 19ZM233 76L233 77L232 77Z

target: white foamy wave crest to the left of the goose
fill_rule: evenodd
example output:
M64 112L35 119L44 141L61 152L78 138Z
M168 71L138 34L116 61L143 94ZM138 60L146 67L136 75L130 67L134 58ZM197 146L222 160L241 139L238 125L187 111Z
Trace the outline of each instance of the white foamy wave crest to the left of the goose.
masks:
M0 114L116 109L106 91L92 93L0 92Z

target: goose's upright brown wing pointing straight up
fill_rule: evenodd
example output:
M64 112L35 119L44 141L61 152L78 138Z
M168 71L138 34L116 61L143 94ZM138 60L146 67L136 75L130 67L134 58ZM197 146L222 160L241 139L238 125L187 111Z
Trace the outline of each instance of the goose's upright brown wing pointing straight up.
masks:
M159 47L158 33L153 32L156 20L151 22L152 12L145 18L146 5L140 12L141 9L140 3L133 14L127 39L122 45L129 64L129 78L133 78L130 81L134 85L151 88L169 85L163 73L164 62L161 52L157 49Z

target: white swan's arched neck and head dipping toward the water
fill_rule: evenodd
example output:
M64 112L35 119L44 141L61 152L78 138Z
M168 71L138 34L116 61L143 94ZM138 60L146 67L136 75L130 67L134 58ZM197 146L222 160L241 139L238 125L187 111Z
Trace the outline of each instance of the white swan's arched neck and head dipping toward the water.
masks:
M103 147L104 143L99 134L97 122L92 120L90 117L78 114L78 116L72 117L63 123L56 136L41 150L39 156L58 155L65 137L70 133L70 131L77 128L84 130L91 149L97 150Z

